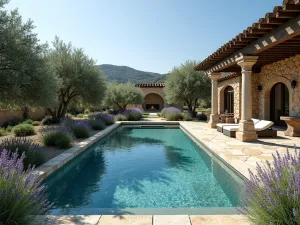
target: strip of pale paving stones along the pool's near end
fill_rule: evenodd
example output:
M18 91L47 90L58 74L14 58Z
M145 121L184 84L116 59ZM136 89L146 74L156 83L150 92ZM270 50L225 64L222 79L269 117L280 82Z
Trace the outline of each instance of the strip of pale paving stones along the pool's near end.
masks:
M39 217L34 225L248 225L243 216L188 216L188 215L95 215Z

